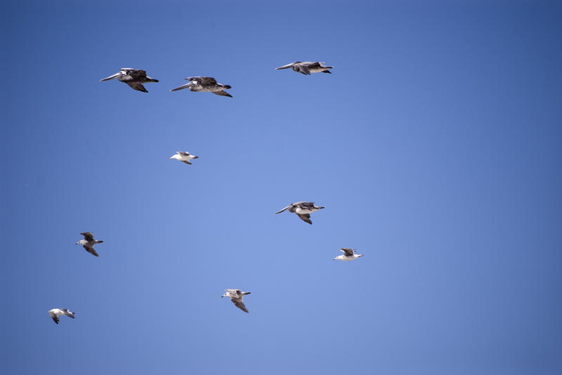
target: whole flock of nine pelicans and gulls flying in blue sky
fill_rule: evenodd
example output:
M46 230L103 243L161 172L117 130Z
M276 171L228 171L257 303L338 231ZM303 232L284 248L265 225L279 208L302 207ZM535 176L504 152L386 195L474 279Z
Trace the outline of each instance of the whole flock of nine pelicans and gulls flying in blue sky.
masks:
M282 67L277 67L275 70L282 70L282 69L289 69L292 68L297 73L310 75L311 73L329 73L329 69L333 67L328 67L324 65L324 62L311 62L311 61L295 61L287 65L283 65ZM100 81L109 81L110 79L117 79L119 81L128 84L133 90L136 91L143 91L143 93L148 93L147 89L143 86L143 84L147 84L150 82L158 82L157 79L148 77L144 70L132 69L130 67L122 68L118 73L111 75L110 77L106 77L104 79L100 79ZM230 93L227 93L225 90L232 88L230 85L219 84L217 83L216 79L213 77L188 77L185 79L189 81L187 84L183 84L182 86L178 86L176 88L172 88L170 91L178 91L183 90L183 88L189 88L190 91L200 91L204 93L214 93L219 96L228 96L232 98L233 96ZM190 160L197 159L198 157L195 155L190 154L189 152L185 151L177 151L175 155L170 157L170 159L176 159L179 162L183 162L185 164L191 164ZM292 213L296 213L296 216L304 221L305 223L312 224L311 221L311 213L324 209L324 206L315 206L314 202L296 202L289 204L284 209L275 212L282 213L283 211L289 211ZM99 256L96 252L96 249L93 248L96 244L101 244L103 241L99 239L94 239L93 234L91 232L81 232L81 235L84 236L84 239L79 240L76 244L80 244L93 256ZM350 249L347 247L341 248L344 254L336 256L334 261L353 261L357 258L363 256L363 254L357 254L354 249ZM230 298L230 301L233 301L234 305L240 310L244 311L244 313L248 313L248 309L244 305L242 299L247 294L251 294L249 291L241 291L240 289L225 289L226 293L221 296ZM53 308L48 310L49 315L53 321L58 324L58 317L60 315L66 315L67 317L72 317L74 319L74 314L72 311L68 310L67 308Z

